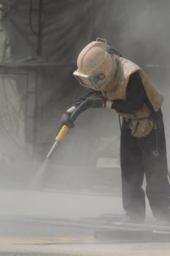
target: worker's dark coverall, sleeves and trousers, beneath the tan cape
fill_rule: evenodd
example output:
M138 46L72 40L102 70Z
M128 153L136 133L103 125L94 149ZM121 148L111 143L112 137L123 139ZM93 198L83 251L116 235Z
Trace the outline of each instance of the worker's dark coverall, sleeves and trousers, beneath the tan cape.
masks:
M87 97L98 95L101 91L87 89L77 100L80 105ZM166 140L161 110L154 112L147 99L144 86L138 72L132 74L128 81L126 100L113 101L114 109L120 113L134 113L145 103L152 110L155 129L144 138L131 135L128 121L123 118L120 138L120 165L122 175L123 208L133 221L143 222L145 217L145 198L142 184L144 174L147 187L146 195L156 219L170 221L170 185L166 159Z

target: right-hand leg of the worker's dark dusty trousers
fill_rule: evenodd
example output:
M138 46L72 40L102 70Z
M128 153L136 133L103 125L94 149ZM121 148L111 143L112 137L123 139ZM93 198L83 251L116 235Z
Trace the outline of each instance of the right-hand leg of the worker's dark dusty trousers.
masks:
M139 146L142 151L142 162L147 181L146 194L152 214L157 219L169 219L170 221L170 185L161 111L156 114L155 118L158 129L153 129L145 138L139 139ZM158 155L153 154L156 147Z

